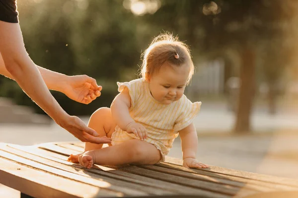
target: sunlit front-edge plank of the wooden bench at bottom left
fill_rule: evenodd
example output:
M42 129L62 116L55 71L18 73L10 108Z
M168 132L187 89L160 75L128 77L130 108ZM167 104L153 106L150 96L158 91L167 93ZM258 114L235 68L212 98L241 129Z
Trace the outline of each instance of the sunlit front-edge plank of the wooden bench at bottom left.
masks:
M2 154L2 153L1 153ZM0 156L0 183L24 194L38 198L83 198L120 194L55 175L36 171Z

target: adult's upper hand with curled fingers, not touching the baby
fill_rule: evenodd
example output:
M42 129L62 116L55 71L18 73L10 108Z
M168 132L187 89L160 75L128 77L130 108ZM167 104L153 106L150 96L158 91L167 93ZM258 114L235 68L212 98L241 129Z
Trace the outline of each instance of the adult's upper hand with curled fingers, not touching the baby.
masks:
M89 104L101 95L101 89L95 79L87 75L77 75L68 77L62 92L74 101Z

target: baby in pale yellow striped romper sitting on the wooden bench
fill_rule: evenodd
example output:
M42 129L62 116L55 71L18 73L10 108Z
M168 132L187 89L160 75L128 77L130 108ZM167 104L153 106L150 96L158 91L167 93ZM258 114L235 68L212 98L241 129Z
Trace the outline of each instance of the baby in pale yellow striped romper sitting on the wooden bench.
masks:
M85 143L85 152L69 161L92 165L163 162L174 139L181 138L183 166L208 168L196 159L198 137L193 120L201 102L183 94L194 73L188 46L170 34L155 38L144 53L142 78L117 83L119 95L111 108L97 109L88 126L112 138L110 147Z

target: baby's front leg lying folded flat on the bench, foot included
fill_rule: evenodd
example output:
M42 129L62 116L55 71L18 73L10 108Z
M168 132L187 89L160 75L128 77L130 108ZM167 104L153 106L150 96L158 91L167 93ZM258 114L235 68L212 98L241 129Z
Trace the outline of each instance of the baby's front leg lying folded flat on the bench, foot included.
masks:
M146 141L128 140L113 147L90 150L78 157L85 168L92 165L155 164L161 159L159 150Z

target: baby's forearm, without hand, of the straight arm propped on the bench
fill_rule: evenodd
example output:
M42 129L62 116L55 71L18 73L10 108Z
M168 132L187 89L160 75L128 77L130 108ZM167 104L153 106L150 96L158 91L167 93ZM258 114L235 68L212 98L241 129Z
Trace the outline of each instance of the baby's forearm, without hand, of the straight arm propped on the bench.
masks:
M198 136L196 131L190 131L180 135L183 159L196 158L198 149Z

